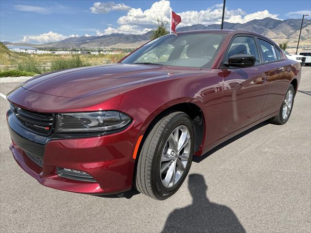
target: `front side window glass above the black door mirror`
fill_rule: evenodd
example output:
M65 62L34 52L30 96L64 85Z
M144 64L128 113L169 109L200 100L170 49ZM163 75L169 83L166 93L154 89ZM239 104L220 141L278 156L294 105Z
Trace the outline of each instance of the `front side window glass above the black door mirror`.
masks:
M256 58L256 63L259 64L259 53L254 40L254 37L251 36L239 36L233 39L230 49L226 55L225 60L228 61L228 58L235 54L249 54L254 55Z

